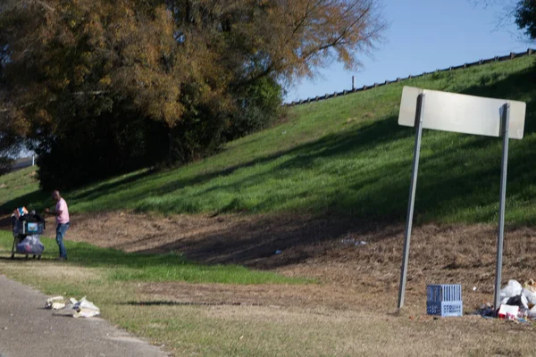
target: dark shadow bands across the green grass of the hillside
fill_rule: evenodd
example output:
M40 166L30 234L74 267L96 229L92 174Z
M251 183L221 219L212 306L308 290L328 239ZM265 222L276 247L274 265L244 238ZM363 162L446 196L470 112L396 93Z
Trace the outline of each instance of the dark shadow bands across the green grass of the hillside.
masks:
M522 202L530 200L531 197L525 192L525 187L536 182L536 170L532 168L532 158L536 154L536 139L532 135L536 131L534 118L536 70L532 66L498 81L484 77L485 75L481 79L482 86L469 87L463 93L506 97L527 102L525 138L521 141L513 140L511 144L508 196L519 197ZM248 187L262 184L266 179L284 178L289 170L297 172L322 169L319 165L323 163L318 163L318 160L330 162L340 158L363 159L368 155L372 161L377 159L385 162L379 168L357 167L344 182L339 183L339 187L331 187L329 194L325 193L325 187L320 187L321 193L317 196L313 196L314 192L304 193L297 189L285 193L266 193L256 203L243 203L240 197L236 197L222 207L220 212L269 212L281 209L283 203L304 198L303 203L297 203L297 206L292 208L297 211L323 212L328 210L346 212L360 218L377 219L380 217L403 221L406 215L413 140L406 140L404 143L401 140L413 136L412 129L399 127L397 118L389 117L386 120L371 121L356 129L328 135L289 150L265 155L223 170L170 180L159 187L139 189L132 195L121 195L121 199L118 197L122 191L130 187L141 188L143 185L148 187L150 181L155 178L149 176L148 173L134 175L73 195L72 200L76 203L98 198L98 207L94 207L95 210L110 210L127 205L138 207L138 210L142 212L199 212L203 209L202 207L197 207L193 203L188 205L188 202L185 203L188 196L179 194L162 202L144 203L144 201L151 197L170 195L183 187L202 185L212 179L229 176L240 169L275 162L282 157L288 160L270 170L251 174L227 185L208 187L195 195L203 196L214 191L232 193L235 192L236 187L246 190ZM400 145L392 145L396 142L400 142ZM391 155L381 152L381 145L386 144L390 146L386 146L385 150L391 151L392 155L399 155L402 150L407 152L407 155L401 160L389 161ZM488 207L480 213L474 213L469 221L490 221L494 218L495 213L490 210L489 206L498 201L500 175L500 140L498 138L462 137L426 130L423 136L423 150L428 150L428 154L423 153L421 161L417 187L417 220L438 220L446 215L452 215L460 209L460 204L463 204L465 208ZM0 209L9 207L13 210L12 207L21 203L34 202L38 200L38 197L38 193L23 196L4 203ZM527 224L536 222L535 217L523 220Z

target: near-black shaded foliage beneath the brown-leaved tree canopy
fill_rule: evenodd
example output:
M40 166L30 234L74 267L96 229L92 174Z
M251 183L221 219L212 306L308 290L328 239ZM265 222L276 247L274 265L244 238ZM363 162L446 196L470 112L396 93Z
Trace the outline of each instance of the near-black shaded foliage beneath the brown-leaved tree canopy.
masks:
M140 167L167 155L167 129L136 112L105 112L67 126L63 135L41 141L38 178L41 187L71 188Z

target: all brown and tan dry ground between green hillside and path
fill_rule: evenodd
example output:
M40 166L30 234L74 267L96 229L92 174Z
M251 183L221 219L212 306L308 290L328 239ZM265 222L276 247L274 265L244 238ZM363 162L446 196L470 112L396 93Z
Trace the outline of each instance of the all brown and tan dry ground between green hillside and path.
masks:
M120 212L78 216L74 222L70 237L97 245L131 252L179 250L200 262L241 262L320 281L306 286L117 282L103 269L0 260L4 274L48 294L88 295L106 319L177 356L534 354L532 324L471 315L436 320L425 314L428 283L461 283L466 313L491 300L496 229L490 225L415 228L406 308L397 314L400 225ZM88 229L91 236L82 233ZM507 230L505 281L533 277L534 245L533 228ZM283 253L273 254L276 246Z

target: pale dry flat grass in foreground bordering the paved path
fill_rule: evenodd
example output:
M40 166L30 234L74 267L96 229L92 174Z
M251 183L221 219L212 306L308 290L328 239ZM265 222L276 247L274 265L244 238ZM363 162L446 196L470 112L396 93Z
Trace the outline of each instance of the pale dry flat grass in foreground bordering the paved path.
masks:
M43 263L19 261L15 266L2 260L0 270L33 280L49 294L68 293L68 286L80 286L77 277L88 272L70 266L76 273L59 282L57 276L38 274ZM45 263L51 273L64 269L62 264ZM435 320L411 307L395 314L383 305L381 296L359 289L340 288L331 295L333 286L325 285L298 286L294 292L289 286L112 285L98 278L105 271L91 274L95 279L86 281L81 290L98 302L106 319L155 345L165 345L176 356L528 356L533 355L536 337L531 325L502 320L476 316ZM235 300L262 305L180 303L214 300L214 294L232 291ZM346 304L333 305L335 298L324 303L316 294L322 291ZM310 295L311 301L304 303L303 295Z

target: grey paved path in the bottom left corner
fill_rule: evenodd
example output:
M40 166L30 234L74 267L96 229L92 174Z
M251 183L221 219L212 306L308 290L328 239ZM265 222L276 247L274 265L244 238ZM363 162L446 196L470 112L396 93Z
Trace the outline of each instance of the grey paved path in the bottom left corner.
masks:
M0 357L163 357L102 319L53 316L46 295L0 275Z

